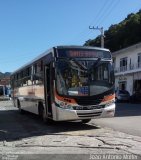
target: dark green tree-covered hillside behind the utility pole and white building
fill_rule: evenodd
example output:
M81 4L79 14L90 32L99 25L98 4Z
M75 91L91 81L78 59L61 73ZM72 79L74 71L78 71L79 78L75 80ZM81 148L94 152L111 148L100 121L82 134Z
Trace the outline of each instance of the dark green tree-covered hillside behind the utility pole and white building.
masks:
M141 42L141 10L136 14L129 14L119 24L111 25L105 31L105 48L112 52ZM88 40L86 46L101 46L100 36L94 40Z

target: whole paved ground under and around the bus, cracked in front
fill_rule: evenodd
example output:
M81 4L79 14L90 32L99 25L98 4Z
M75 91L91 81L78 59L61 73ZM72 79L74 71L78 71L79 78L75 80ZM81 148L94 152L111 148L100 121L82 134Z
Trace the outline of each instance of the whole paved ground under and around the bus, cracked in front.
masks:
M141 156L141 137L133 136L141 133L139 108L140 105L118 104L114 118L92 120L88 124L55 122L47 125L33 114L19 114L10 101L0 102L0 159L10 159L7 156L11 154L19 156L19 160L29 157L82 160L90 159L90 154L101 153ZM134 132L128 135L119 131ZM59 158L58 154L65 157Z

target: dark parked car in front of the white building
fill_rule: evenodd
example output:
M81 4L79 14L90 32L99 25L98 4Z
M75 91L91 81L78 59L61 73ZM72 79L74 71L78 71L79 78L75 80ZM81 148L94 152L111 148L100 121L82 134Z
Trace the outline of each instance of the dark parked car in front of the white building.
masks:
M130 101L130 94L126 90L117 90L115 92L116 101Z

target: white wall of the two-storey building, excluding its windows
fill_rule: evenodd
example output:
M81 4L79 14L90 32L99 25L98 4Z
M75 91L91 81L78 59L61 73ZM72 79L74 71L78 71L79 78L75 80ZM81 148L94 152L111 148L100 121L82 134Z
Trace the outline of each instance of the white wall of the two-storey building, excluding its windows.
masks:
M121 87L121 83L125 83L125 89L130 93L130 95L135 91L134 82L136 80L141 80L141 67L138 68L138 53L141 53L141 43L113 53L115 63L115 89L119 89ZM127 57L127 70L121 71L120 59L125 57ZM133 66L132 69L130 68L131 66Z

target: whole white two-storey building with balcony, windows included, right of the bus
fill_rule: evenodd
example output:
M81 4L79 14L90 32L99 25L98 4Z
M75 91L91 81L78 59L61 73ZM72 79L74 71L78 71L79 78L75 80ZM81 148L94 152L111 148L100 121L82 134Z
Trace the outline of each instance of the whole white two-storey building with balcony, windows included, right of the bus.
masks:
M141 91L141 43L113 52L115 89Z

